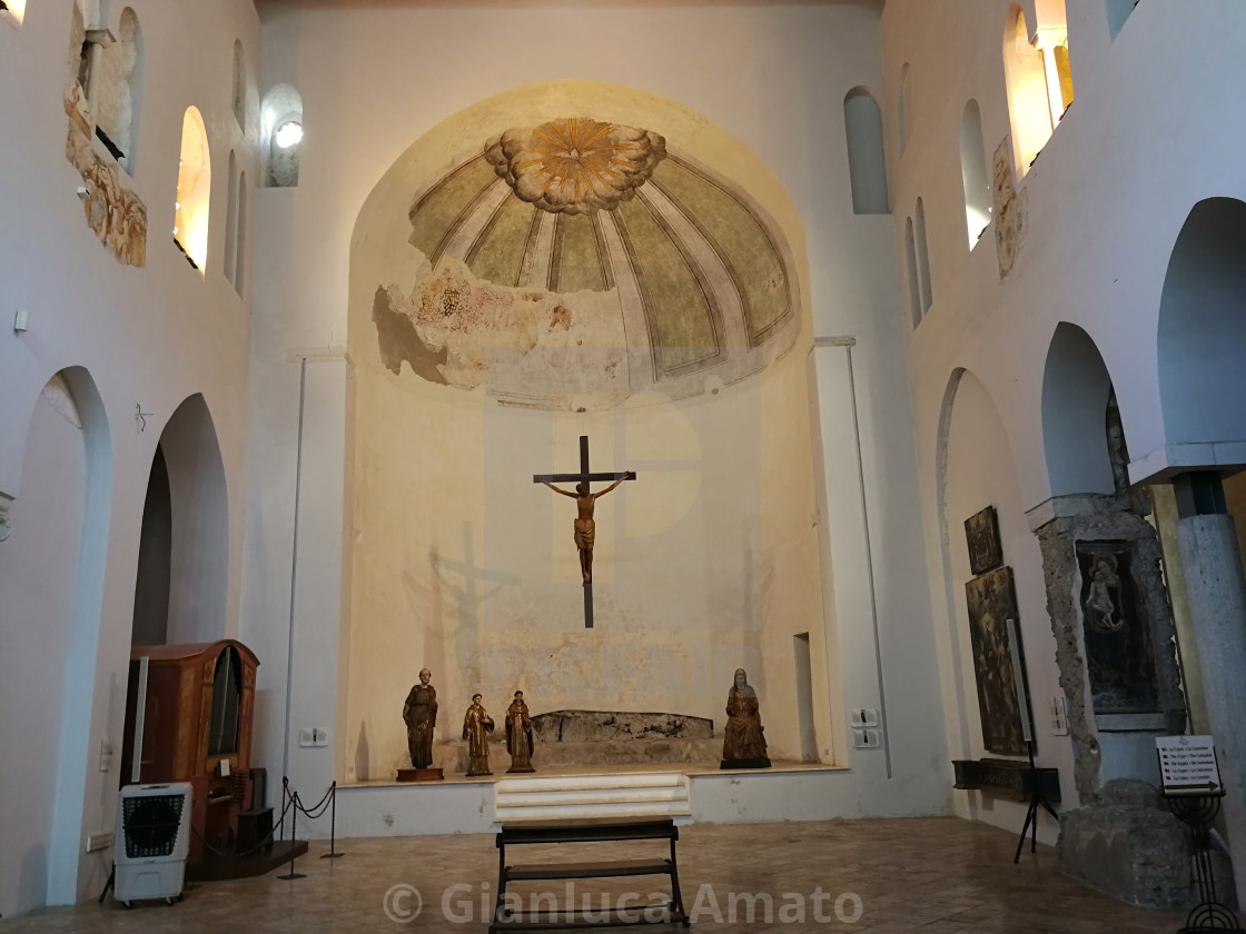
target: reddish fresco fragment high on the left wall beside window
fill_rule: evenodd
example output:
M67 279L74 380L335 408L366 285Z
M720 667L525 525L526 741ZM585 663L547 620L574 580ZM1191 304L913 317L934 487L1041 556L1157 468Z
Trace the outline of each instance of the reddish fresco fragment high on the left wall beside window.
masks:
M90 110L76 81L65 90L65 112L70 118L65 157L82 176L86 223L118 262L142 267L147 262L147 208L122 187L117 166L95 152Z

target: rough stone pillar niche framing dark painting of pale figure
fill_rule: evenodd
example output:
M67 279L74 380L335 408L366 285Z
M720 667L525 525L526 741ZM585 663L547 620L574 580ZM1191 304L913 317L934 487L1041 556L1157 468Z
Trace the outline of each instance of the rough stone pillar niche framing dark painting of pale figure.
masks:
M1090 801L1114 778L1158 785L1154 737L1184 731L1185 697L1155 529L1134 497L1055 497L1039 509L1078 795Z

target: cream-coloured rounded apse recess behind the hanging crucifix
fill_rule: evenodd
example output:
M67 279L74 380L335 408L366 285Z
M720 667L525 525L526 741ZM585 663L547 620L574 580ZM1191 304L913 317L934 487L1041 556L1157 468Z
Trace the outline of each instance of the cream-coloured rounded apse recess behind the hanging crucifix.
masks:
M597 156L607 149L622 164ZM528 172L553 157L563 172ZM549 710L713 716L719 679L740 666L715 649L730 643L768 702L796 709L797 679L776 667L792 664L791 633L784 658L765 661L761 633L824 618L820 589L776 590L797 567L819 579L819 555L774 572L761 560L807 523L801 497L815 488L812 456L779 463L792 445L814 448L807 410L790 405L810 391L804 250L800 213L765 162L634 88L515 88L397 156L351 234L346 511L366 533L346 545L340 773L385 773L404 755L383 689L409 682L412 645L455 704L511 679L540 681ZM602 501L593 630L566 501L515 478L561 469L577 435L594 465L625 463L653 492L623 484ZM404 496L411 484L435 494ZM711 543L720 562L677 572L678 554ZM720 605L743 609L710 611ZM811 658L826 658L824 634L810 639ZM685 658L701 661L684 671ZM649 670L622 685L635 667ZM832 735L830 710L815 721ZM795 719L766 736L800 755Z

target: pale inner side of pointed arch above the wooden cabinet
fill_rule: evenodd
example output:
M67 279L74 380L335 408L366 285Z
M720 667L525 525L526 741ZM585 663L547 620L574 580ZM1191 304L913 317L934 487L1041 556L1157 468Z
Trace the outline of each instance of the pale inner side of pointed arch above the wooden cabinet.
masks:
M223 639L229 499L216 425L202 395L177 407L161 433L159 448L168 471L172 521L166 641Z

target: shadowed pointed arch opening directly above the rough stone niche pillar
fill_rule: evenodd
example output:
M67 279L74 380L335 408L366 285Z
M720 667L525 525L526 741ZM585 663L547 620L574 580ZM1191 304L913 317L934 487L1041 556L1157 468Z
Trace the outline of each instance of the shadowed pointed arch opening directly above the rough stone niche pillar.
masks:
M1108 451L1111 376L1094 340L1060 321L1043 369L1043 451L1052 496L1116 492Z

